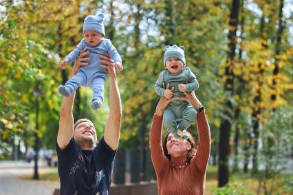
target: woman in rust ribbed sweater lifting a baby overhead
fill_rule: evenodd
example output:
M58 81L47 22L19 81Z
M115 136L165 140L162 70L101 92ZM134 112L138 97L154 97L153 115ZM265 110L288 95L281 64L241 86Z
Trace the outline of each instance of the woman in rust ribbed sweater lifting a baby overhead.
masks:
M168 87L167 87L168 88ZM155 109L150 133L151 159L158 179L159 194L204 194L206 167L210 157L210 127L204 107L195 93L185 93L186 98L162 97ZM185 100L197 109L198 144L190 133L188 139L175 139L172 133L162 144L162 115L173 100Z

